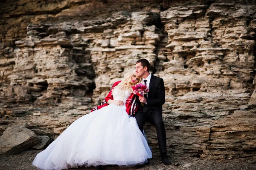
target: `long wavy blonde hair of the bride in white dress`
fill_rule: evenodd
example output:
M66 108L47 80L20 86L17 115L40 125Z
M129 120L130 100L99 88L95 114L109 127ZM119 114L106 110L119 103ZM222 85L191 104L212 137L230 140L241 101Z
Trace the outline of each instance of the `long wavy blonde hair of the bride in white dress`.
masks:
M127 72L125 74L125 79L123 79L117 86L114 87L121 89L121 90L128 90L129 92L132 92L131 86L134 86L135 84L131 84L131 77L133 75L136 75L136 72ZM137 75L136 75L137 76ZM137 84L139 84L142 80L142 77L140 77L140 80L138 81Z

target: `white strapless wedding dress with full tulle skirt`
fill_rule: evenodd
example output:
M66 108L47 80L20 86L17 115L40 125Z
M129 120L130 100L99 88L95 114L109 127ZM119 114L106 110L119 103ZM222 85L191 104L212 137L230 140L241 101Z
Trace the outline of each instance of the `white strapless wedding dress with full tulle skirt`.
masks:
M114 100L126 101L128 91L113 90ZM33 165L42 170L69 167L143 164L152 153L136 119L124 106L109 104L73 122L44 151Z

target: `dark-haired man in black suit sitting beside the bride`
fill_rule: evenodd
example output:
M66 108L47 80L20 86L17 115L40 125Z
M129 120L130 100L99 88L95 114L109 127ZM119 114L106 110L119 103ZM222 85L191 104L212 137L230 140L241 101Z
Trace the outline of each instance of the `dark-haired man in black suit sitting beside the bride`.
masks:
M144 103L144 106L140 106L138 112L135 114L137 124L141 132L143 131L143 125L146 121L156 127L162 163L169 165L171 164L171 161L169 161L167 157L166 132L162 120L162 105L165 103L163 79L149 73L150 64L146 59L138 60L135 66L137 76L142 77L142 83L147 84L149 88L147 96L139 97L140 102Z

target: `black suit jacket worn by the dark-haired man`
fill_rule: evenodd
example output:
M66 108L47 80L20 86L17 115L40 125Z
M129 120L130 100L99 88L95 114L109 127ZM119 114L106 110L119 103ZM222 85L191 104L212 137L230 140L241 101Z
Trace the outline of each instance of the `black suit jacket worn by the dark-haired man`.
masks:
M162 105L165 103L165 88L163 78L151 75L146 107L152 107L159 113L163 113ZM139 104L140 106L140 104ZM142 109L143 107L139 107Z

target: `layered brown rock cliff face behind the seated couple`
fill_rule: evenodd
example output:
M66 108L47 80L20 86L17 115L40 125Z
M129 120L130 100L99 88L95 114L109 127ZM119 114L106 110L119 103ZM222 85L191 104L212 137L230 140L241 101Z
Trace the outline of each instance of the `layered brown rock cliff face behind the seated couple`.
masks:
M1 133L25 123L58 135L146 58L165 82L170 155L256 159L253 0L0 6ZM154 127L145 129L158 154Z

